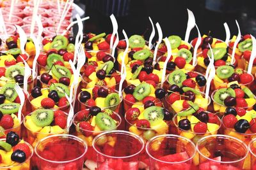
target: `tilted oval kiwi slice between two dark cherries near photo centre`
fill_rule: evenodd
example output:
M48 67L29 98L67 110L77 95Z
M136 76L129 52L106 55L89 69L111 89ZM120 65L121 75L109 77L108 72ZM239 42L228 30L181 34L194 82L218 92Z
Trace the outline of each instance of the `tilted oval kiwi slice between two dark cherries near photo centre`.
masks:
M141 83L140 85L136 86L133 92L133 96L138 101L144 99L144 97L148 96L151 92L150 85L148 83Z

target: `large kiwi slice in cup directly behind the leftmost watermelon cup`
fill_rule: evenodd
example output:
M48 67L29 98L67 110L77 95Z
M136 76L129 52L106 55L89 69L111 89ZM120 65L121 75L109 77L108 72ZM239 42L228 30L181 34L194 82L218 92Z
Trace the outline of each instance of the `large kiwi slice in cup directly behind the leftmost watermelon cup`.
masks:
M38 109L31 114L31 120L39 127L51 125L54 112L52 110Z

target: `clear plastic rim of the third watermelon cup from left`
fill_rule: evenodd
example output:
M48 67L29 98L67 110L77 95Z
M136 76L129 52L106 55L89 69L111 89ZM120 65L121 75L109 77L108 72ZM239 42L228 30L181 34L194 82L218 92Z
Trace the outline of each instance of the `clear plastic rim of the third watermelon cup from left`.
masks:
M153 155L151 155L149 153L149 150L148 150L148 147L150 145L150 143L154 142L155 140L157 140L158 138L175 138L175 139L182 139L183 141L187 141L188 143L190 143L193 147L194 147L194 152L192 154L191 157L189 157L189 159L186 159L186 160L182 160L182 161L179 161L179 162L166 162L164 160L159 160L157 159L156 157L154 157ZM164 164L181 164L181 163L184 163L184 162L188 162L189 160L193 159L193 157L195 157L196 155L196 145L195 143L193 143L193 141L191 141L190 139L188 138L184 138L183 136L179 136L179 135L176 135L176 134L162 134L162 135L159 135L159 136L154 136L153 138L149 139L147 141L147 144L145 146L145 149L146 149L146 152L147 152L147 155L149 157L151 157L152 159L156 160L157 162L161 162L161 163L164 163Z

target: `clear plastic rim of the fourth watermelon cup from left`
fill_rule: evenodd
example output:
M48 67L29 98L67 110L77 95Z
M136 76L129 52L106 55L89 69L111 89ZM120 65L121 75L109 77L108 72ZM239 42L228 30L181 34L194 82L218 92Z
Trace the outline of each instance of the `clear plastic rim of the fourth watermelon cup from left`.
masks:
M221 137L221 138L225 138L225 139L232 139L233 141L236 141L236 143L239 143L240 145L243 145L244 148L246 149L246 155L244 157L242 157L241 159L234 160L234 161L227 161L227 162L218 161L218 160L214 160L214 159L209 159L208 157L205 157L205 155L200 152L200 150L198 148L198 143L204 142L205 139L217 138L217 137ZM198 152L202 157L204 157L204 159L210 160L212 162L218 162L218 163L221 163L221 164L234 164L234 163L240 162L241 160L246 159L246 157L248 156L249 150L248 150L248 146L243 141L241 141L240 139L237 139L237 138L234 138L234 137L228 136L228 135L223 135L223 134L214 134L214 135L205 136L205 137L199 139L198 142L196 143L196 152Z

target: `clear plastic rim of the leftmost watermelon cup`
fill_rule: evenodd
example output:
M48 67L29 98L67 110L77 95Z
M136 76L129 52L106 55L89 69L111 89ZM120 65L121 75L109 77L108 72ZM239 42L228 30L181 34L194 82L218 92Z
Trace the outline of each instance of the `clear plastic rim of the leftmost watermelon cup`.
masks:
M49 139L49 138L58 138L58 137L63 138L63 139L67 138L67 139L76 140L77 142L81 143L81 144L84 146L84 152L83 152L79 157L77 157L76 159L65 160L65 161L48 160L48 159L45 159L44 157L41 157L40 154L37 152L38 146L39 146L42 142L46 141L46 140ZM42 159L42 160L45 160L45 161L47 161L47 162L51 162L51 163L54 163L54 164L65 164L65 163L74 162L74 161L76 161L76 160L79 160L79 159L83 158L84 155L85 155L85 153L86 153L87 150L88 150L88 145L86 144L85 141L83 141L83 139L78 138L77 136L74 136L74 135L71 135L71 134L54 134L54 135L51 135L51 136L47 136L47 137L45 137L45 138L43 138L43 139L40 139L40 141L38 141L38 142L36 143L34 149L35 149L35 154L36 154L36 156L38 156L38 157L39 157L40 159Z

